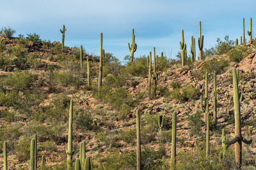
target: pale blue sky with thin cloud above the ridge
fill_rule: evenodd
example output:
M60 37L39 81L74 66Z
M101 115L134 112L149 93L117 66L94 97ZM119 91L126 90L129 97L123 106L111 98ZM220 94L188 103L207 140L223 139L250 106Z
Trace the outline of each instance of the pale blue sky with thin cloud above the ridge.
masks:
M60 28L65 24L65 45L83 45L86 52L99 55L100 32L103 48L121 61L129 55L135 29L135 57L147 55L156 46L157 53L175 58L179 52L181 29L190 49L191 36L198 38L198 23L202 21L204 48L216 44L216 38L231 39L249 29L256 21L255 0L172 1L172 0L1 0L0 27L10 26L18 34L39 34L42 39L61 41ZM246 34L246 39L248 36ZM198 44L196 40L196 55Z

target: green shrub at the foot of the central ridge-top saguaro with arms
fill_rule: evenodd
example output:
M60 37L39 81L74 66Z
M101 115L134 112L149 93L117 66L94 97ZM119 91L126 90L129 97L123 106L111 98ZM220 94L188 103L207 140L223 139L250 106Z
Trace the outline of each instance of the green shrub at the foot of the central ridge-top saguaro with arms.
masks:
M132 74L133 76L147 76L147 57L143 55L142 57L135 58L133 62L128 62L125 70L127 71L127 73Z

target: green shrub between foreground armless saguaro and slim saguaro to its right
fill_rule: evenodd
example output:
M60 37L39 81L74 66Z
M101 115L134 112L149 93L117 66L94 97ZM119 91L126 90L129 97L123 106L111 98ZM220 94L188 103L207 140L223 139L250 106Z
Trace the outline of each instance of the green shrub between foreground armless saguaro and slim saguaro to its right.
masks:
M195 137L202 136L202 131L200 128L204 125L204 121L201 120L200 112L197 111L195 114L189 115L188 120L189 120L188 125L189 127L191 127L189 131L189 135L195 136Z

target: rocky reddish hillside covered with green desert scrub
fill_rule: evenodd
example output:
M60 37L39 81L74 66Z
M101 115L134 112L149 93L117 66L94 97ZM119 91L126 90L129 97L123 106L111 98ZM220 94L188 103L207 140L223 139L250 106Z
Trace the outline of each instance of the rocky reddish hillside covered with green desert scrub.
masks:
M243 145L243 169L255 168L256 143L256 43L231 46L204 61L185 66L159 57L156 96L148 96L147 58L125 66L106 53L103 81L97 90L99 57L59 42L33 42L25 38L0 37L0 144L7 141L10 169L28 169L30 141L38 138L47 169L66 169L68 110L74 101L74 156L86 141L86 157L93 169L136 169L136 110L141 115L143 169L168 169L172 139L172 114L177 113L177 169L233 169L231 145L220 158L221 129L227 139L234 133L232 69L239 69L241 129L251 145ZM85 51L85 50L84 50ZM87 86L86 57L90 56L91 87ZM217 74L217 117L213 125L213 72ZM205 159L205 73L209 81L210 160ZM164 115L159 132L158 115ZM2 148L2 147L1 147ZM3 155L3 154L2 154ZM3 156L0 157L3 168Z

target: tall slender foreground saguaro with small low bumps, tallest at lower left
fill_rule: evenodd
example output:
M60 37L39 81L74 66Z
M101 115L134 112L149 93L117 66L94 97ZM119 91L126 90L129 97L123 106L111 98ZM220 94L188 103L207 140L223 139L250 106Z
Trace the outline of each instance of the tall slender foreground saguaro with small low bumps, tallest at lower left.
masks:
M68 148L66 148L67 153L67 168L72 169L72 124L73 124L73 101L70 100L70 110L69 110L69 121L68 121Z

